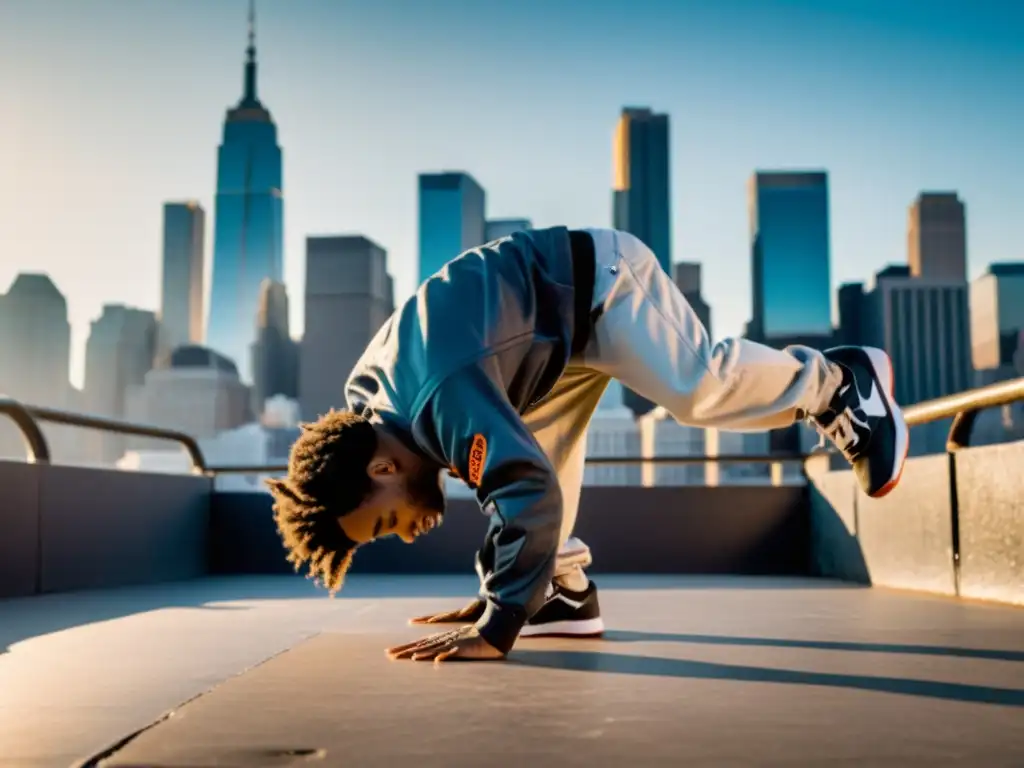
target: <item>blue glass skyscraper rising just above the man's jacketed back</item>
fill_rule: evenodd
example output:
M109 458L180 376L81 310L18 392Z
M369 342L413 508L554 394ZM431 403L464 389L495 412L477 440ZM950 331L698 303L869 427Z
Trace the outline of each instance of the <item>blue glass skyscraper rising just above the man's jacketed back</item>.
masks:
M420 174L420 282L486 242L486 196L461 171Z

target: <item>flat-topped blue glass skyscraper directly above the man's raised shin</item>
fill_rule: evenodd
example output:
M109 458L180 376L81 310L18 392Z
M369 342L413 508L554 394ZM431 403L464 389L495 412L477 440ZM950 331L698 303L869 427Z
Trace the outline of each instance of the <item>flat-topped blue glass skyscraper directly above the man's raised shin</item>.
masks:
M749 333L758 341L831 339L828 177L764 172L748 187L753 267Z

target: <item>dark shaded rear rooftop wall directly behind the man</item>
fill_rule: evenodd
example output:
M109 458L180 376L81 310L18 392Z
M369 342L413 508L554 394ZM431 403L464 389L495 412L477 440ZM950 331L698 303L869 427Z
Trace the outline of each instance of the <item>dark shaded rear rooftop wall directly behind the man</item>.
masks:
M375 542L353 572L471 573L487 518L472 499L449 504L444 524L415 546ZM289 570L266 494L215 494L215 572ZM585 487L575 535L594 573L772 573L808 571L806 492L801 486Z

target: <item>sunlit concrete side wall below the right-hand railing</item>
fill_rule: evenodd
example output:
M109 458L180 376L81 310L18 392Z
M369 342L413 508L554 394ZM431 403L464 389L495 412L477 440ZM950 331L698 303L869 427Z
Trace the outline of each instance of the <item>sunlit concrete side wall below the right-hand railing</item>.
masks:
M881 500L849 470L810 471L813 572L1024 605L1022 467L1024 441L918 457Z

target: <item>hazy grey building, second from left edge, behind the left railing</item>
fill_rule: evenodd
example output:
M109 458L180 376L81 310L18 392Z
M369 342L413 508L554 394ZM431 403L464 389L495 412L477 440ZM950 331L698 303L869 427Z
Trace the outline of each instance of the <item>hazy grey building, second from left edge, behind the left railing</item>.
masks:
M105 304L92 322L85 345L85 401L89 413L121 419L132 386L141 385L157 354L157 316L145 309ZM124 435L88 435L89 458L114 462L124 454Z

